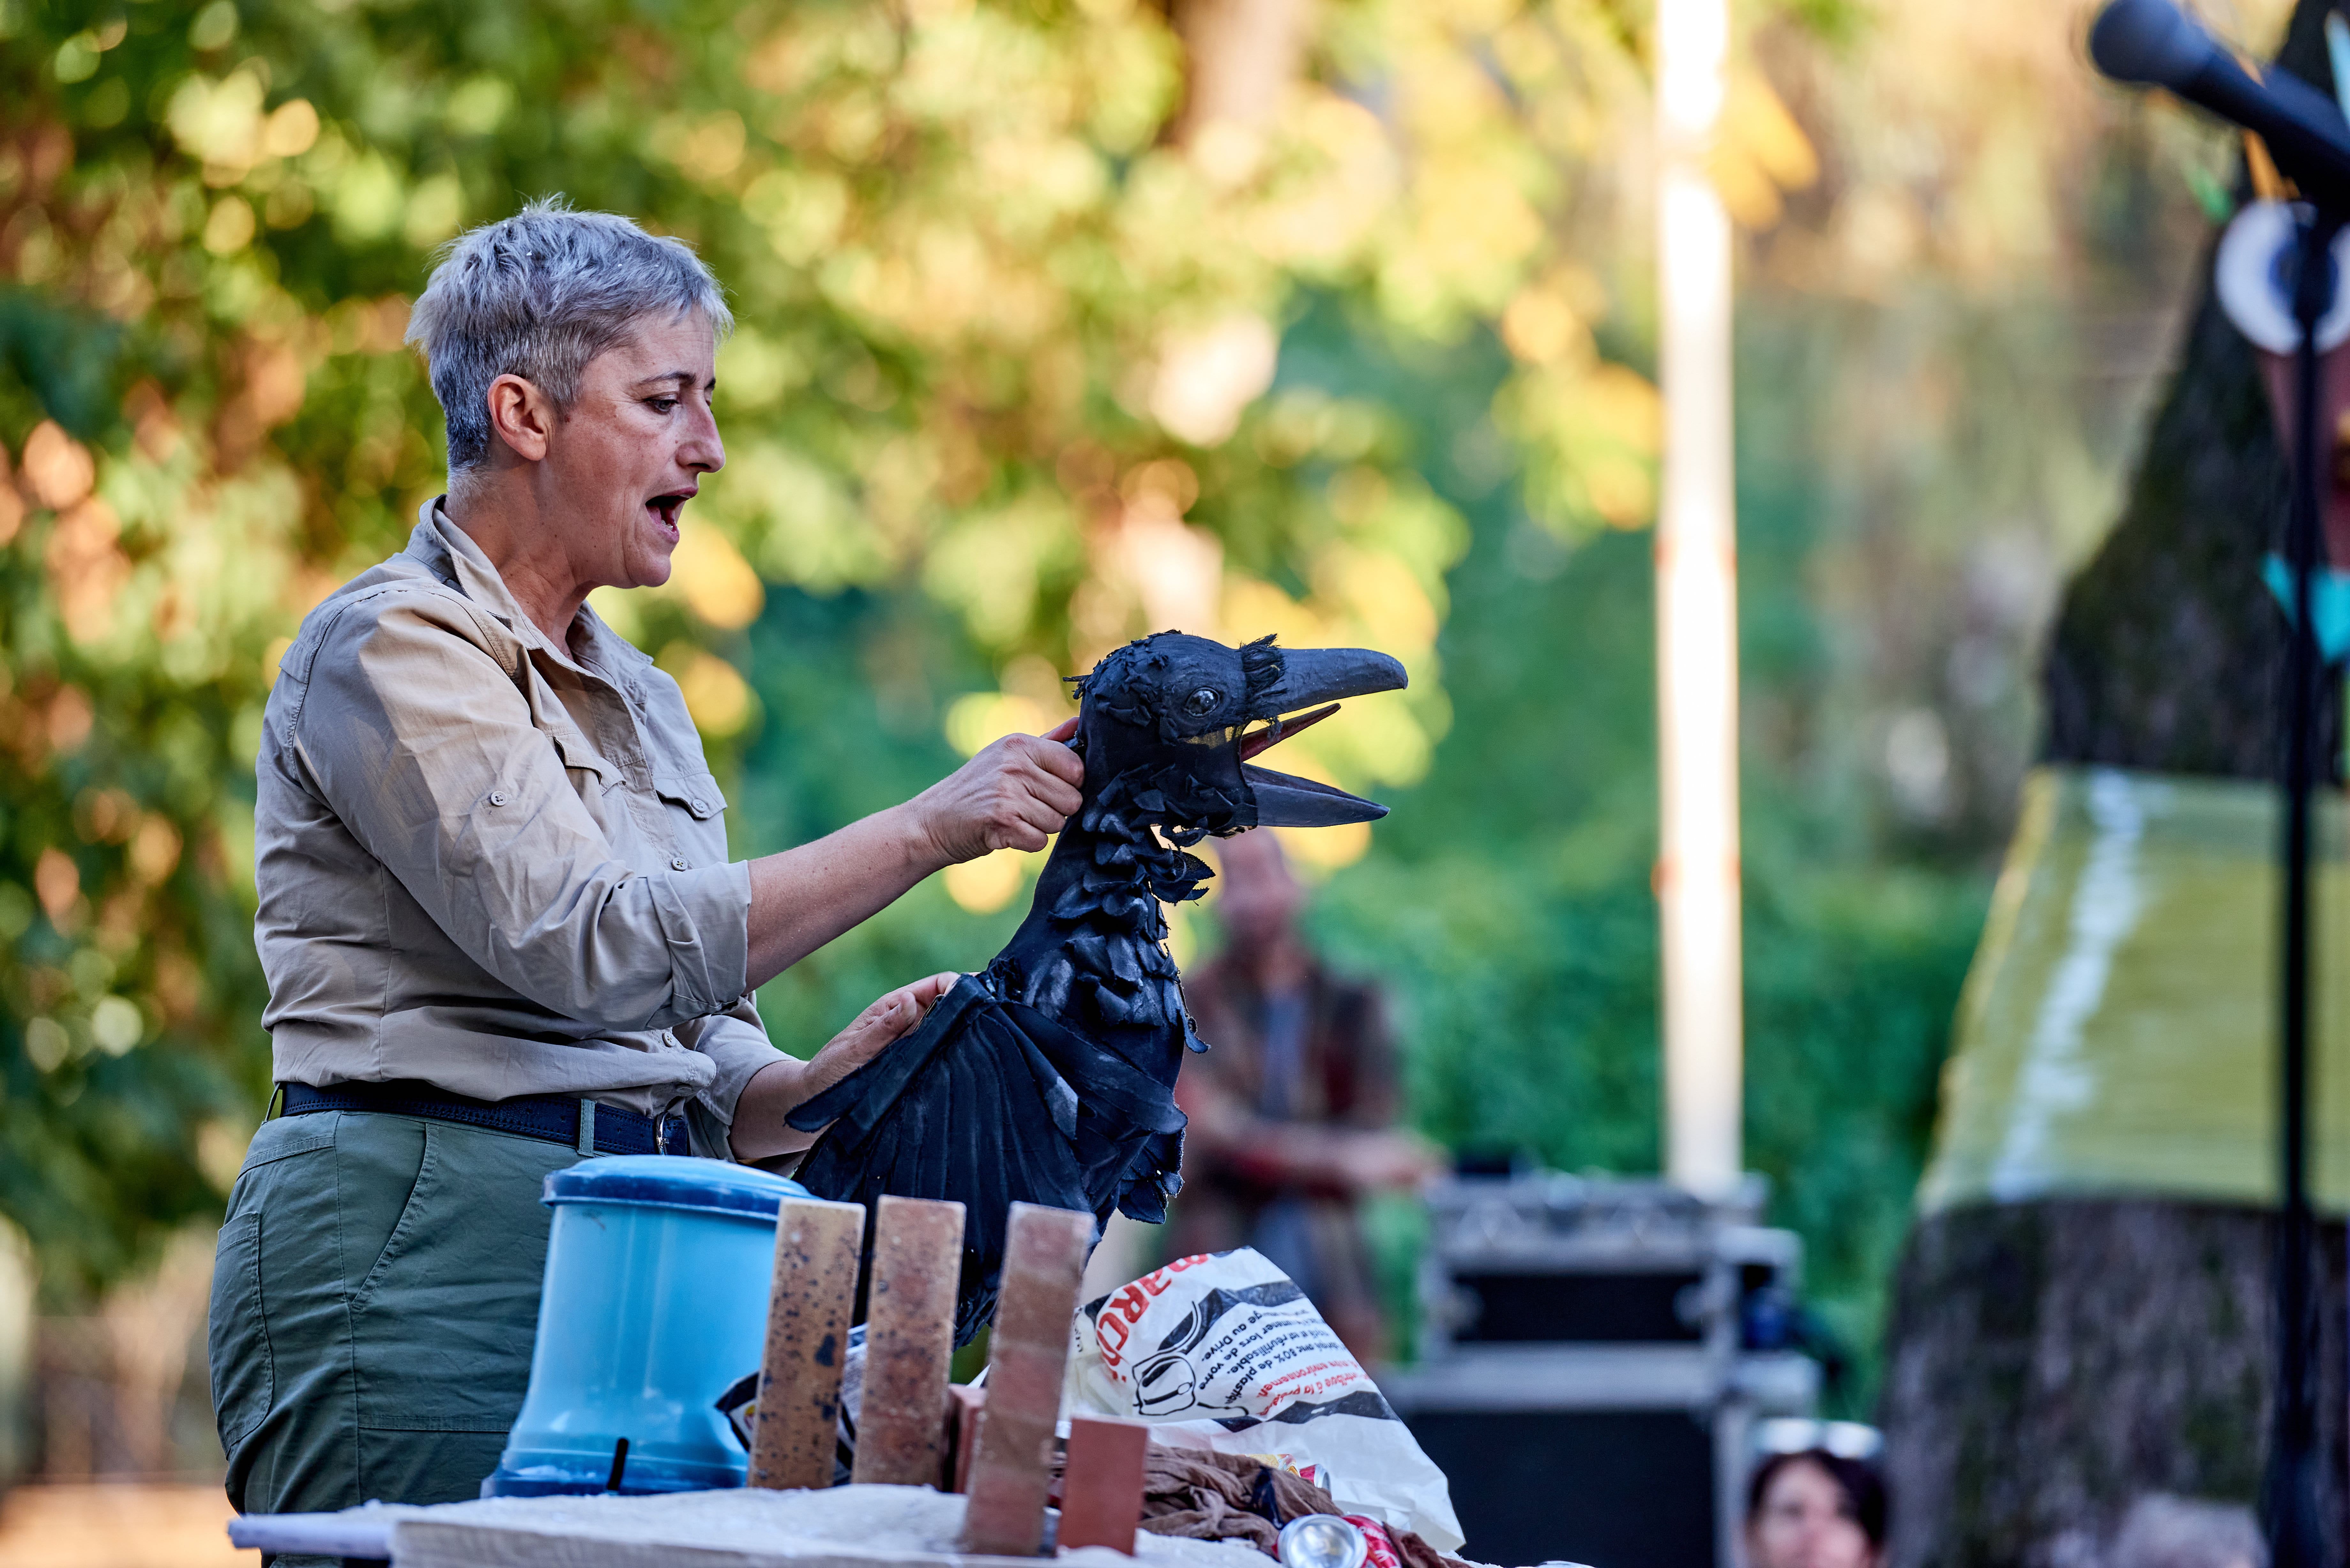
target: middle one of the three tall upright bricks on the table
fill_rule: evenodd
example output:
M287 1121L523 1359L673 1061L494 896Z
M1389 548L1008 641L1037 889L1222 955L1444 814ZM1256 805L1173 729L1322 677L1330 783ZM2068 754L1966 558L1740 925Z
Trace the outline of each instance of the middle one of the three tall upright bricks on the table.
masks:
M874 1274L865 1300L865 1394L853 1481L938 1486L947 1450L947 1359L964 1272L964 1206L884 1197L874 1204Z

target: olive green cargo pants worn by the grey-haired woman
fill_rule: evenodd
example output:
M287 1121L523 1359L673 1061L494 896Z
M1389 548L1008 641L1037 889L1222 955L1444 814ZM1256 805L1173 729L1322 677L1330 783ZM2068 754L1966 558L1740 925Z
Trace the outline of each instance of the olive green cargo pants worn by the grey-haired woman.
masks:
M212 1276L212 1403L240 1512L482 1493L531 1375L538 1190L576 1161L381 1112L261 1126Z

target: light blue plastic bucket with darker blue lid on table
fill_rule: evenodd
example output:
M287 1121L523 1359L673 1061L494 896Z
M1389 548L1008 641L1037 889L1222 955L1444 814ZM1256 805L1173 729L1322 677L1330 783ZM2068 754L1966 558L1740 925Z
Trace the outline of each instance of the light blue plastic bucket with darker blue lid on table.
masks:
M555 1211L531 1392L484 1497L743 1486L717 1410L759 1368L776 1211L806 1187L677 1154L585 1159L548 1178Z

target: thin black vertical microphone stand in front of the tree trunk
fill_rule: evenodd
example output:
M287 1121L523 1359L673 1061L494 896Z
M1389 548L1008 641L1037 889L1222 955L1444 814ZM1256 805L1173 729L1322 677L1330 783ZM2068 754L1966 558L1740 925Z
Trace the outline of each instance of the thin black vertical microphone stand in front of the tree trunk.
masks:
M2341 219L2315 207L2298 212L2301 244L2294 275L2294 510L2284 562L2294 578L2294 614L2284 656L2284 987L2280 1157L2282 1213L2277 1218L2277 1392L2275 1429L2263 1483L2263 1526L2270 1568L2319 1568L2317 1530L2317 1380L2310 1291L2310 795L2317 783L2317 651L2315 578L2331 461L2319 430L2317 322L2334 303L2334 235Z

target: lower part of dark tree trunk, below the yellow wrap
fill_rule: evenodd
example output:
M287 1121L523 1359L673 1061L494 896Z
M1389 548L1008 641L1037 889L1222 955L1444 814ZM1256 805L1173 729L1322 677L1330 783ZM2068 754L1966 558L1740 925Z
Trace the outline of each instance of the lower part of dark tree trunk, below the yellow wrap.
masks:
M2319 1248L2319 1516L2341 1561L2341 1225ZM2272 1262L2272 1218L2218 1204L2042 1199L1920 1220L1885 1368L1892 1561L2124 1568L2110 1542L2148 1497L2249 1509Z

